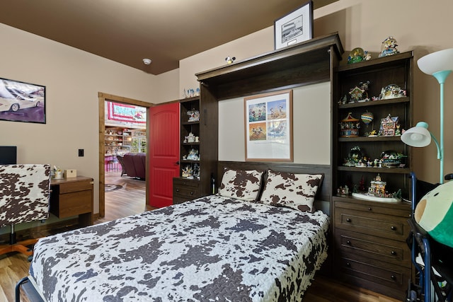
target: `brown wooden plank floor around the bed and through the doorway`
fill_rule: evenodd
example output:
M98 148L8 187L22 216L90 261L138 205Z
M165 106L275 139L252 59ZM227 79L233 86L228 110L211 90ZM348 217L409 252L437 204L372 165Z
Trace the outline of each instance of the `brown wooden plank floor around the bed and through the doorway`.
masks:
M101 223L142 211L153 209L145 203L145 182L120 177L120 173L106 173L105 183L121 185L120 190L105 193L105 217L95 221ZM14 301L14 287L17 281L28 275L27 257L16 252L0 256L0 301ZM24 300L25 301L25 300ZM398 302L393 298L376 294L365 289L339 284L332 279L316 276L306 292L304 302Z

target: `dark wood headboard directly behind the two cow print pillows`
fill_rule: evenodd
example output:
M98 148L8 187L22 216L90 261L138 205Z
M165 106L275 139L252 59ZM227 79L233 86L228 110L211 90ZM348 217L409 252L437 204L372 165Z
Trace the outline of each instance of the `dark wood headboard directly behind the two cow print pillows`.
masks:
M267 171L268 169L280 171L280 172L290 172L290 173L306 173L306 174L315 174L323 173L323 183L321 185L321 190L318 191L316 199L330 201L331 200L331 166L330 165L312 165L312 164L302 164L302 163L267 163L267 162L251 162L251 161L219 161L217 165L217 187L222 181L222 175L224 168L231 168L236 170L263 170Z

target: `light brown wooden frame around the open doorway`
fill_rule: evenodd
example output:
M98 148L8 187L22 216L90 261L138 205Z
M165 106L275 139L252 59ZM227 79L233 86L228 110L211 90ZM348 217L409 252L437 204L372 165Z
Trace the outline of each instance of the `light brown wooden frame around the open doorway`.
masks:
M127 105L137 105L140 107L147 108L147 162L146 165L149 167L149 108L154 107L155 104L147 103L142 100L134 100L132 98L124 98L122 96L111 95L108 93L98 93L98 107L99 107L99 217L105 216L105 101L113 101L115 103L122 103ZM149 169L146 169L146 180L149 180ZM148 201L149 185L146 182L146 199ZM95 220L97 217L95 217Z

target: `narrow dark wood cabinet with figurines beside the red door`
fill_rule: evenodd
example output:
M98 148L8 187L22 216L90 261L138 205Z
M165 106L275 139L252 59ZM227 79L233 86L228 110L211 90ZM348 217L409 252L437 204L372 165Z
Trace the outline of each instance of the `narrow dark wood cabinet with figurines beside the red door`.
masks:
M193 112L199 117L193 118ZM212 194L218 116L217 102L201 96L180 100L180 174L173 178L173 204Z

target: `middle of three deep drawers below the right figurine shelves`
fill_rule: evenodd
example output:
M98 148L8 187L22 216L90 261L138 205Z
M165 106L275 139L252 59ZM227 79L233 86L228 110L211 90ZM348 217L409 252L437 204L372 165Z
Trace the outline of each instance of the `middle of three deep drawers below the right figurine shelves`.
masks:
M359 255L411 268L411 251L405 242L336 229L336 251L340 256Z

